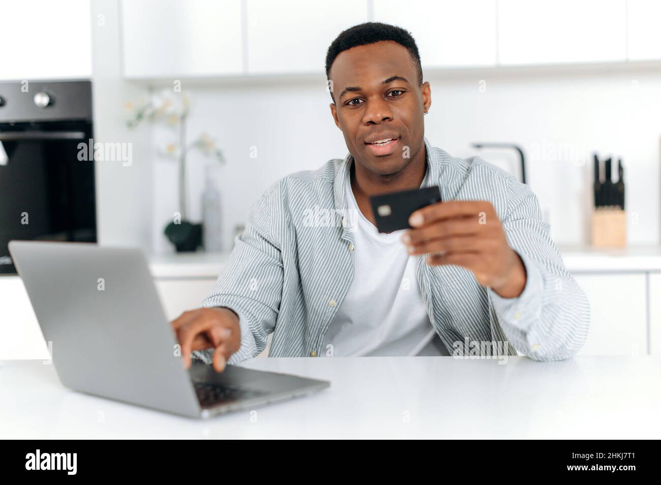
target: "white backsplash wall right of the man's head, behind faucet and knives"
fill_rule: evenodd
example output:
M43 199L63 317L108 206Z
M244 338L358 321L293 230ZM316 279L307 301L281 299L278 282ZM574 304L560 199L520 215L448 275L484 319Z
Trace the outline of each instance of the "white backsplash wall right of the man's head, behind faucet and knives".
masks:
M592 151L601 159L609 153L613 159L621 156L629 242L659 241L661 72L543 70L486 75L485 81L481 93L478 79L434 79L428 136L462 157L475 153L471 141L522 145L528 183L561 244L589 242ZM553 155L554 148L563 147L566 156ZM480 155L494 163L502 159L501 152Z

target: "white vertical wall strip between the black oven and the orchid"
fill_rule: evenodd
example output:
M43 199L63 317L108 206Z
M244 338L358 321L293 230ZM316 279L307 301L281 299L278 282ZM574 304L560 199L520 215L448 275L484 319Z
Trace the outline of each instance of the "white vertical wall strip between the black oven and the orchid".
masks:
M95 143L131 143L132 163L96 161L98 241L151 246L151 127L126 128L124 106L147 93L122 79L118 2L92 0Z

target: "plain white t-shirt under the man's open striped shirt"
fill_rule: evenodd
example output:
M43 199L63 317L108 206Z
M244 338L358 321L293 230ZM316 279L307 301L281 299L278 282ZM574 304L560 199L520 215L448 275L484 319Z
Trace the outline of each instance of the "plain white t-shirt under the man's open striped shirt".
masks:
M321 355L329 349L334 357L449 355L427 315L416 258L401 241L406 229L379 233L358 209L348 180L346 200L356 214L346 219L354 233L354 280L324 336Z

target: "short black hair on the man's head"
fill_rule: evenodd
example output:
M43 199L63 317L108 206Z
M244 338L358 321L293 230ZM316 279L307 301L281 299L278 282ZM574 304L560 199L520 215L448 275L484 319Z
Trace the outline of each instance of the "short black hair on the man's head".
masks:
M422 86L422 64L420 63L420 53L413 36L401 27L382 22L365 22L354 25L346 30L342 30L340 35L331 42L331 46L326 54L326 79L331 79L331 66L340 52L352 47L373 44L381 40L393 40L407 48L416 71L418 71L418 85ZM331 92L332 98L332 92ZM333 101L335 98L332 98Z

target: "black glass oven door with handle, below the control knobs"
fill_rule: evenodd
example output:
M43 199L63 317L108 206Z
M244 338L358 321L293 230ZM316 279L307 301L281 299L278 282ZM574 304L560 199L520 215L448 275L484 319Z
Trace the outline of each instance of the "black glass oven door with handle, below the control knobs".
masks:
M0 274L12 239L97 241L94 162L79 160L88 121L0 124Z

